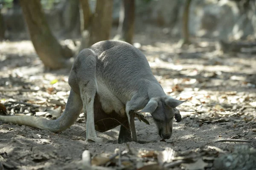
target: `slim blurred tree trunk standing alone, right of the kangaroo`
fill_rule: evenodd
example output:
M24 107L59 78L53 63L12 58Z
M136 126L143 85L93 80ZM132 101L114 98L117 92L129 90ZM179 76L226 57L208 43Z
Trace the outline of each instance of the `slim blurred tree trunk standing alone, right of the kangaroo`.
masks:
M190 6L191 0L186 0L185 7L183 11L183 44L189 44L189 6Z

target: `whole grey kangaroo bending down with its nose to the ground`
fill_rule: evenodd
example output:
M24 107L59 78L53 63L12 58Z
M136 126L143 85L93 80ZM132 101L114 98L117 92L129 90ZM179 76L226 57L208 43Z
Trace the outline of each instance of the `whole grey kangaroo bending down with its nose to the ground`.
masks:
M167 96L152 74L144 54L133 45L114 40L95 43L79 52L70 71L70 95L64 113L56 120L35 116L0 116L0 121L27 125L52 132L70 127L83 110L86 140L102 142L96 130L104 132L121 125L118 143L137 140L134 116L151 113L163 139L172 136L176 107L185 101Z

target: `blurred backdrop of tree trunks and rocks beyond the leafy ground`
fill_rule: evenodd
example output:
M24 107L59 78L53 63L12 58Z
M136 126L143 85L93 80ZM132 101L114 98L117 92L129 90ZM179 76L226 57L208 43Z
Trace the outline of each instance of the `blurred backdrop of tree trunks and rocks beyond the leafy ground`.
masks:
M195 38L208 38L218 41L222 51L240 51L254 46L251 42L255 39L255 3L255 0L0 0L0 40L32 40L38 56L51 69L67 66L60 58L73 57L82 48L109 39L135 43L140 48L150 44L145 37L163 36L169 42L177 42L178 47L200 41ZM246 42L230 43L241 40ZM58 65L50 63L56 62L53 54L60 62Z

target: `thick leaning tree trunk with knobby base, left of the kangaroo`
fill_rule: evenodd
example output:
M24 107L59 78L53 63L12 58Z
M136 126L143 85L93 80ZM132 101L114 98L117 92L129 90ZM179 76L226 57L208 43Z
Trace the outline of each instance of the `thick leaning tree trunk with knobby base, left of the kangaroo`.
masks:
M65 68L67 58L72 57L73 52L67 46L63 48L53 36L40 0L20 0L20 6L35 51L45 67L50 69Z

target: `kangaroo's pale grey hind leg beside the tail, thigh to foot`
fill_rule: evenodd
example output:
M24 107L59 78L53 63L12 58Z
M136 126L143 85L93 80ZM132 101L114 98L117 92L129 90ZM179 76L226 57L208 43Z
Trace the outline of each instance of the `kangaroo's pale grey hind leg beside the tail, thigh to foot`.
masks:
M94 125L94 98L96 95L96 55L90 49L84 49L76 58L76 78L79 84L83 110L86 113L86 140L102 142L96 135Z

